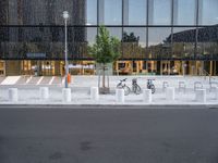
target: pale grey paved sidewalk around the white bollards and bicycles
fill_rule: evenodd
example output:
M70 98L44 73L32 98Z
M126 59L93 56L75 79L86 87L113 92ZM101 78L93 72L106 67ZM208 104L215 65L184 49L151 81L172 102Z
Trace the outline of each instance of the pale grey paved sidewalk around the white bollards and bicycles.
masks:
M124 103L116 102L116 85L119 79L128 78L126 85L131 86L131 80L138 76L111 76L109 95L100 95L98 101L90 100L89 89L90 87L98 86L97 76L74 76L73 83L70 85L72 98L71 102L62 102L62 88L63 84L46 85L49 82L48 77L45 77L39 85L1 85L0 86L0 104L92 104L92 105L197 105L197 104L218 104L216 99L216 92L209 90L208 78L205 77L183 77L183 76L140 76L138 85L142 89L146 88L146 79L155 78L154 82L157 91L153 95L153 102L143 102L143 95L130 93L125 97ZM52 77L51 77L52 78ZM215 77L218 80L217 77ZM179 92L178 83L184 80L186 83L186 92ZM166 93L162 91L162 83L168 82L170 87L175 88L175 100L166 100ZM194 92L194 82L201 82L203 87L207 90L206 102L196 102ZM39 87L49 87L49 100L40 100ZM19 88L19 102L9 101L9 88Z

